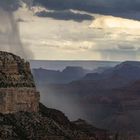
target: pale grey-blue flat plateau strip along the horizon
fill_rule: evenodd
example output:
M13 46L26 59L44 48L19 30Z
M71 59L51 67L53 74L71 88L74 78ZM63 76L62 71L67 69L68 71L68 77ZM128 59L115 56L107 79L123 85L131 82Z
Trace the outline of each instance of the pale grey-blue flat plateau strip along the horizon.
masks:
M67 66L79 66L84 69L96 69L98 67L112 67L119 61L92 61L92 60L30 60L32 68L44 68L51 70L63 70Z

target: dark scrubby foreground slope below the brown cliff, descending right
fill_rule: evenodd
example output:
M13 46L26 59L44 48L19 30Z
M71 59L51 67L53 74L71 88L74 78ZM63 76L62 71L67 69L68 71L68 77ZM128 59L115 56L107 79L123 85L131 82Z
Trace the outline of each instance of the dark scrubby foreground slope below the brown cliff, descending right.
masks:
M39 113L0 114L0 140L108 140L106 131L87 129L70 122L60 111L40 104ZM100 135L100 136L101 136Z

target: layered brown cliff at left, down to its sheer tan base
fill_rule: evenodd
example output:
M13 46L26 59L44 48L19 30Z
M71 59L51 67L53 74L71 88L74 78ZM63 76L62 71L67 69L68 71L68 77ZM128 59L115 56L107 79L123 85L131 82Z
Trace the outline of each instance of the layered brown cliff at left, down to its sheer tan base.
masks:
M36 91L30 65L24 59L0 52L0 113L37 112Z

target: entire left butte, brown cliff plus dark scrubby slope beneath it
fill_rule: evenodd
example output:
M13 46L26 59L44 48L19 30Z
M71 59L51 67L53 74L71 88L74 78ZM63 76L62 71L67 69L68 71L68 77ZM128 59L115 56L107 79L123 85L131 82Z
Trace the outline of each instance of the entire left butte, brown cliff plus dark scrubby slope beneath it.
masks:
M108 140L105 130L88 125L81 129L40 103L29 62L0 51L0 140Z

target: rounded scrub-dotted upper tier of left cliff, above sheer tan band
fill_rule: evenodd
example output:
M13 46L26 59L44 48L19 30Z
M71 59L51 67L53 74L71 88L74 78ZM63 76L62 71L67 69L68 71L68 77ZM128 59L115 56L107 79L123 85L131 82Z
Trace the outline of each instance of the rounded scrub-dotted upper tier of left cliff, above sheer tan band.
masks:
M20 57L0 52L0 88L35 87L30 64Z

